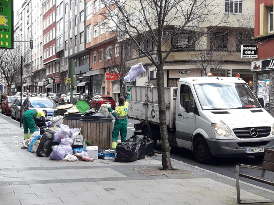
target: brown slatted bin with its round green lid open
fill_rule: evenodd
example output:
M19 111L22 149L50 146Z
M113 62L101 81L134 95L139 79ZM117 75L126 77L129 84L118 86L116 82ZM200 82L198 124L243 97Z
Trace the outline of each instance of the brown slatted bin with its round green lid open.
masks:
M93 146L98 148L111 148L112 143L112 117L91 111L90 104L85 100L76 103L77 109L83 113L80 118L81 132Z

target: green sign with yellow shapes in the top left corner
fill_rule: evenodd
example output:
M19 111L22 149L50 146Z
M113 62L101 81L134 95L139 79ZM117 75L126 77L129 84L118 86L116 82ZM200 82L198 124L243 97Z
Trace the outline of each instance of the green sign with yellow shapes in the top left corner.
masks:
M0 49L13 49L13 0L0 0Z

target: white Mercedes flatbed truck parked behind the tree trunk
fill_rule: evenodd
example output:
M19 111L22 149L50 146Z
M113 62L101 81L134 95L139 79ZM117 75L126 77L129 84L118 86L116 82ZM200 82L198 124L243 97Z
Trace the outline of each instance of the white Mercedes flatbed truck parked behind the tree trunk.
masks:
M255 156L274 148L274 118L241 78L186 77L165 87L171 146L194 151L200 163L212 156ZM133 86L128 118L139 120L136 135L160 140L157 87Z

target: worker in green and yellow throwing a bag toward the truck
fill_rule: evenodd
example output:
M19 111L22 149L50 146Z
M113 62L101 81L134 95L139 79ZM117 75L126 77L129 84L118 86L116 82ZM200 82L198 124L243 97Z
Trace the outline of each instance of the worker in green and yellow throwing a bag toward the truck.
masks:
M108 108L108 111L115 117L115 123L112 131L112 148L116 149L117 140L119 136L119 132L121 135L121 142L125 142L127 139L128 132L128 105L130 98L130 91L132 87L128 87L127 92L127 100L125 101L125 97L119 97L119 106L116 108L116 111Z

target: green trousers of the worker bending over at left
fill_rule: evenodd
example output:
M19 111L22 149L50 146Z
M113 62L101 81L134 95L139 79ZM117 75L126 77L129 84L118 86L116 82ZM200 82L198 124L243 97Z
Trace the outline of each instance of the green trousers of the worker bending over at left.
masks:
M28 138L28 133L30 129L30 135L36 130L36 125L34 117L37 116L37 111L28 110L23 115L23 125L24 125L24 139Z

